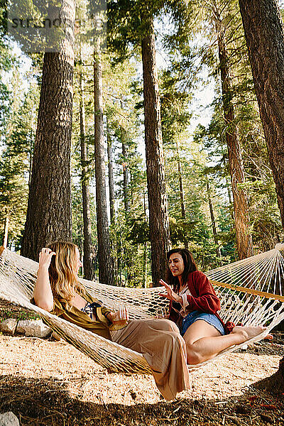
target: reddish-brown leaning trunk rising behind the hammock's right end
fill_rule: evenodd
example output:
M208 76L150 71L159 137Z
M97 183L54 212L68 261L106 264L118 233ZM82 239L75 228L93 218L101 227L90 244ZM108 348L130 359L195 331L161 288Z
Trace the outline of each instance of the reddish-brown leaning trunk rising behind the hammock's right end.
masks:
M221 21L216 23L216 29L218 38L219 67L222 81L224 120L226 123L226 143L228 146L229 171L231 175L231 188L234 200L236 245L239 258L244 259L249 256L253 256L252 239L249 234L249 204L246 191L242 190L238 186L245 182L244 165L241 155L239 135L235 124L234 107L231 102L231 80L229 76L228 58Z

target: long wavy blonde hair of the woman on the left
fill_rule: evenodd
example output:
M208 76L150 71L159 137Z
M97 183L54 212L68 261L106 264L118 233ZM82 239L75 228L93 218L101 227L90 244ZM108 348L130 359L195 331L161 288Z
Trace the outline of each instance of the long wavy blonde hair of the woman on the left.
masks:
M77 257L75 244L55 241L48 244L55 252L48 269L50 286L54 296L62 297L72 306L76 293L85 294L84 287L77 278Z

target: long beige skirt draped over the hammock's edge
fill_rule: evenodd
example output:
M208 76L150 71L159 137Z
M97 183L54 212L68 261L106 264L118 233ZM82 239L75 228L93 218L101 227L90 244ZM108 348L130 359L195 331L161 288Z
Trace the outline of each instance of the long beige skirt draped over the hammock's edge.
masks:
M143 355L165 399L189 388L185 341L174 322L131 320L123 329L111 332L111 339Z

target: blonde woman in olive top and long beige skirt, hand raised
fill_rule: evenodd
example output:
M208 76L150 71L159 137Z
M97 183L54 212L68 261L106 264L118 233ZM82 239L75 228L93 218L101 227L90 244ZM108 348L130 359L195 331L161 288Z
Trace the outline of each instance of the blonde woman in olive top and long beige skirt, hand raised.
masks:
M56 241L40 251L35 305L113 342L140 352L165 399L189 387L185 341L170 320L129 320L126 307L112 312L87 294L75 244Z

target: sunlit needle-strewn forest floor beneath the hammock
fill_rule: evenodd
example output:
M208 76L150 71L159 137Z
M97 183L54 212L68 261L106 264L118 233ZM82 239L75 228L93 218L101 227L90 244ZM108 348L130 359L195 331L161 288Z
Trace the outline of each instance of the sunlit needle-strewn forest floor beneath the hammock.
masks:
M0 301L0 320L29 316ZM284 395L252 386L277 371L283 344L275 334L273 343L224 355L168 402L152 376L108 373L62 340L0 334L0 413L31 426L284 425Z

